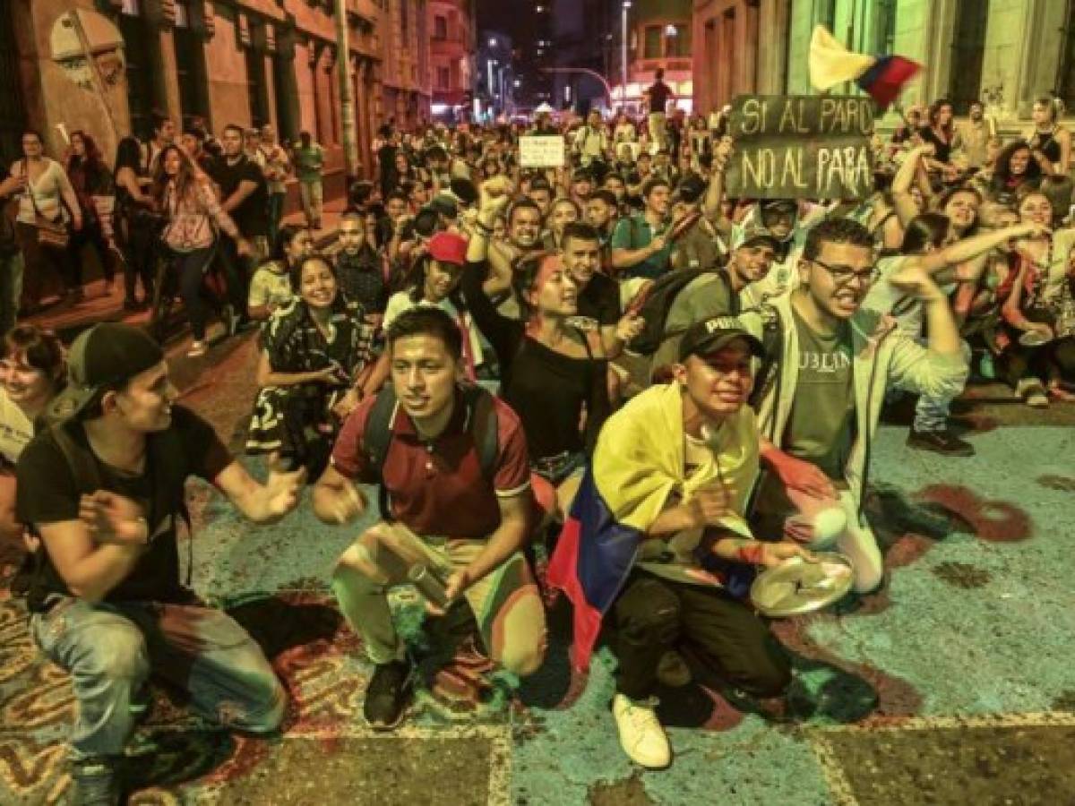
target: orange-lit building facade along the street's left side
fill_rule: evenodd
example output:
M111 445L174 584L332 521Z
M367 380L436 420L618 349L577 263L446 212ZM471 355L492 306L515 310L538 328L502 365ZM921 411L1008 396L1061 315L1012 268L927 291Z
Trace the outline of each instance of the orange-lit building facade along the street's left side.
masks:
M338 60L349 62L359 156L369 167L381 123L429 114L427 0L345 0L349 53L336 44L335 0L8 0L0 5L0 153L24 127L48 152L84 129L111 162L121 136L149 135L160 111L273 125L325 146L330 193L343 188ZM76 12L76 16L68 12ZM86 54L90 58L86 58ZM368 169L367 169L368 170Z

